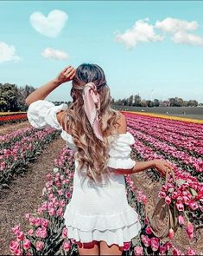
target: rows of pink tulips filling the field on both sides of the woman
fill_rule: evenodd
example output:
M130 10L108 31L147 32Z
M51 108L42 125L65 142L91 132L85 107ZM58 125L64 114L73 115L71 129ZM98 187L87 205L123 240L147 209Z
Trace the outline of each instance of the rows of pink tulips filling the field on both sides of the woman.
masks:
M178 230L170 228L162 240L155 237L144 209L150 194L148 184L155 184L159 174L150 168L125 175L127 198L139 213L142 230L130 243L124 243L123 255L203 255L203 124L123 113L127 130L135 138L131 157L136 161L162 159L174 167L176 181L170 178L157 196L178 212ZM26 171L26 164L40 154L41 145L56 135L59 133L53 129L23 128L1 136L0 185L10 186L10 179ZM77 241L68 238L63 218L73 192L74 167L73 151L62 148L46 176L37 213L24 216L28 230L22 230L21 223L10 226L16 237L8 241L12 255L79 255Z

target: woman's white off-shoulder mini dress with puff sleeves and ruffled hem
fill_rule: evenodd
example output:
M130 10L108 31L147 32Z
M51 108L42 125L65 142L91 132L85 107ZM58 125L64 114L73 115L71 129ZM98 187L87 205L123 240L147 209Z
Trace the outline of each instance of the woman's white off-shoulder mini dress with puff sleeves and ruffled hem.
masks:
M29 105L27 114L35 128L61 130L60 136L67 141L67 147L76 151L72 135L63 130L56 118L56 113L67 108L66 103L55 106L52 102L38 100ZM109 136L108 140L111 141L108 167L128 169L135 166L136 161L130 158L130 146L135 139L130 132L113 140ZM108 246L124 246L124 242L130 242L141 229L138 214L128 204L124 174L111 172L110 180L103 180L98 186L89 178L79 176L78 165L75 161L73 194L64 213L68 238L82 243L105 240ZM84 174L85 171L83 168Z

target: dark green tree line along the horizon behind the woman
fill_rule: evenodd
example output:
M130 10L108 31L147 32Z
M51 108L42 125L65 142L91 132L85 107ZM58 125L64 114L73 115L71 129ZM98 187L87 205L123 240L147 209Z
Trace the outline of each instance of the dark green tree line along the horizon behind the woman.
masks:
M1 112L16 112L16 111L27 111L28 105L25 99L33 92L35 88L29 85L24 87L18 87L16 84L11 83L0 83L0 111ZM53 102L55 105L61 103L67 103L69 105L71 102L56 101ZM160 101L154 99L154 101L144 100L140 95L130 95L128 98L115 100L111 98L111 103L113 105L122 106L136 106L136 107L197 107L203 106L203 103L198 103L196 100L184 101L182 98L174 97L168 98L167 101Z

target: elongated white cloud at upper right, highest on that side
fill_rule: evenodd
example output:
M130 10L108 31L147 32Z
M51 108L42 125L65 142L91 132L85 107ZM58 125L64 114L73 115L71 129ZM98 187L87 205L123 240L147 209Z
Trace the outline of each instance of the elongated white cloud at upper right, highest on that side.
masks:
M187 31L187 30L197 30L198 23L187 22L186 20L180 20L172 17L167 17L162 22L157 21L155 23L155 28L159 30L163 30L168 33L175 33L180 31Z

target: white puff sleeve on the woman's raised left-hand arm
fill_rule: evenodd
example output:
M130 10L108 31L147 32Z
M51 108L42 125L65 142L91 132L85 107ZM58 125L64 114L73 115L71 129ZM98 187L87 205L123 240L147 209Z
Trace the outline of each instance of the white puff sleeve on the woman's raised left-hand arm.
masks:
M29 105L27 116L29 123L34 128L55 128L62 130L56 114L61 110L67 110L66 103L55 106L53 102L38 100Z

